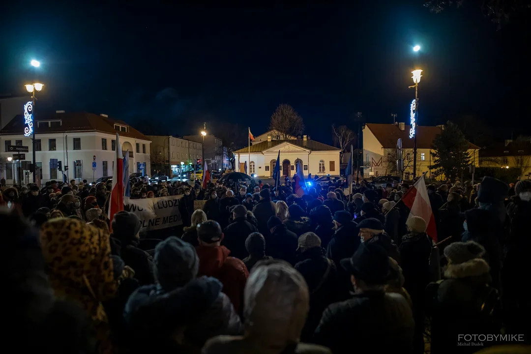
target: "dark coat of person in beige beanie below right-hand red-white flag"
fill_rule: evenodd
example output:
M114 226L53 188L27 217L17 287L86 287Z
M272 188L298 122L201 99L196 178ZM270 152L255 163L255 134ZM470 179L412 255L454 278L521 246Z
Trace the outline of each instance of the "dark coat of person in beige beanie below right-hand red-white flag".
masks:
M420 301L418 305L422 305L424 289L430 282L432 239L424 232L404 235L398 251L400 251L400 266L405 278L404 288L414 303Z

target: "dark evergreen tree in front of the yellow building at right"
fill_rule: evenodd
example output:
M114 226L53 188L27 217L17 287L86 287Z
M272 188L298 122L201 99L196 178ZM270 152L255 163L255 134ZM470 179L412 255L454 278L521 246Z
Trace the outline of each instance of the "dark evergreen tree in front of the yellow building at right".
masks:
M432 144L435 176L444 175L451 181L455 180L470 163L468 148L469 143L461 129L448 121Z

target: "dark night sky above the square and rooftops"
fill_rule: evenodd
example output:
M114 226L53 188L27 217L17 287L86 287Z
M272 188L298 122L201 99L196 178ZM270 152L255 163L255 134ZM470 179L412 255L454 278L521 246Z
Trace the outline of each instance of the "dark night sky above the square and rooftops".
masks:
M392 123L391 113L407 122L417 65L421 125L473 114L500 140L531 134L529 18L496 30L475 5L433 14L422 0L17 3L0 5L0 94L24 94L37 75L45 84L37 115L106 113L144 133L173 135L226 120L258 135L278 104L289 103L306 134L331 143L331 124L355 128L357 111L366 122Z

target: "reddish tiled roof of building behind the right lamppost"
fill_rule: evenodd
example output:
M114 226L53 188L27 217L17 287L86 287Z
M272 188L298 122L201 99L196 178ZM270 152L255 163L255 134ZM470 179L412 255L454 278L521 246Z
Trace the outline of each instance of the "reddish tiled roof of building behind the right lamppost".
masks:
M410 125L406 125L402 131L396 124L365 124L365 129L370 129L384 149L396 149L398 139L402 139L403 149L413 149L413 139L409 139L410 128ZM435 136L440 133L440 127L417 125L417 149L431 149ZM479 149L479 146L472 143L469 144L469 149Z

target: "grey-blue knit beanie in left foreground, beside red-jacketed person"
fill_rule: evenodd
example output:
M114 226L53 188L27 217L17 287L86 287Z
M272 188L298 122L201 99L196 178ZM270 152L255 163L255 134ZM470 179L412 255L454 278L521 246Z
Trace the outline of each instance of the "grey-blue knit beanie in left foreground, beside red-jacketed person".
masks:
M194 279L199 271L195 248L175 236L170 236L155 247L153 275L160 286L169 291L182 287Z

